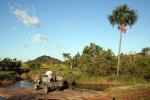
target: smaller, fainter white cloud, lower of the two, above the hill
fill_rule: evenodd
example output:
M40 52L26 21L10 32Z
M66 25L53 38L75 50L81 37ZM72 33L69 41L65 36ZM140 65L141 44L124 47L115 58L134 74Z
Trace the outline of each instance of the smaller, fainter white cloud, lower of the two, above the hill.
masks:
M34 44L45 44L47 42L47 39L42 34L37 34L33 36L32 43Z

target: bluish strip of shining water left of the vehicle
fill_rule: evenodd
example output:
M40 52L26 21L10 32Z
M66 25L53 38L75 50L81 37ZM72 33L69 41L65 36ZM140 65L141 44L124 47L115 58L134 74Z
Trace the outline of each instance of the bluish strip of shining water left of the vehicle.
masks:
M15 84L2 85L0 87L6 87L6 88L26 88L26 87L31 87L31 86L32 86L32 81L31 80L22 80L22 81L16 82Z

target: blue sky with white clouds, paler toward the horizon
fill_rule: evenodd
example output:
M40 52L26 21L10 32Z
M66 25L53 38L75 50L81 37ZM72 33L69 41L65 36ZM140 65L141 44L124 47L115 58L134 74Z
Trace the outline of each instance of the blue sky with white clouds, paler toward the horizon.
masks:
M73 56L90 43L117 54L119 31L107 16L122 4L139 15L123 34L122 52L150 47L150 0L0 0L0 58L63 60L63 52Z

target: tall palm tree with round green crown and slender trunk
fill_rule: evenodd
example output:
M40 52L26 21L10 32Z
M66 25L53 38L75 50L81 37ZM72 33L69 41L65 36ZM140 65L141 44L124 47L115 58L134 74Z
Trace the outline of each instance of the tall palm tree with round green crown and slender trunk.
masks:
M136 10L130 9L126 4L118 6L113 10L112 14L108 16L108 20L112 26L117 25L120 31L119 52L118 52L118 65L117 76L119 75L120 67L120 52L122 44L122 33L126 32L126 26L131 26L137 21L138 15Z

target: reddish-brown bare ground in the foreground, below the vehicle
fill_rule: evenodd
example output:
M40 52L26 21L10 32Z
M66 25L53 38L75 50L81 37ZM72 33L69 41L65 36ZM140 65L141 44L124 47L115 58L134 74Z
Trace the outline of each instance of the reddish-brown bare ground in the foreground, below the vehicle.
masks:
M111 96L102 91L65 89L44 93L32 88L0 88L0 96L8 100L111 100Z

